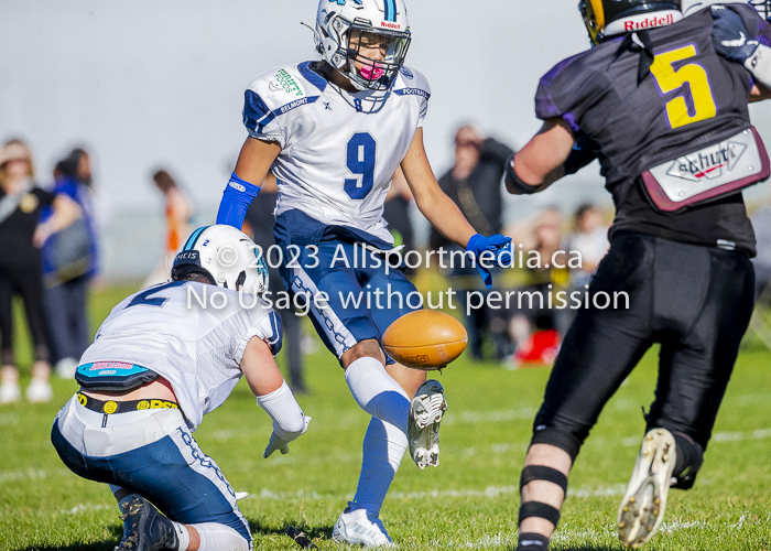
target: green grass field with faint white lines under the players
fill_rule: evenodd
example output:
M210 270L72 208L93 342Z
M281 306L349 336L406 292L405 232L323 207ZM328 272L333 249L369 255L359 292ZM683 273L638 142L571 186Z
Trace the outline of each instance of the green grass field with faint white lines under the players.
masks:
M95 323L130 291L98 293ZM23 337L20 344L26 346ZM29 352L21 359L29 372ZM748 338L696 487L671 494L665 522L647 549L771 549L770 367L771 354ZM464 358L445 370L442 464L421 472L405 458L382 511L402 549L515 545L519 473L547 376L547 369L507 371ZM283 534L287 525L332 549L332 527L352 498L368 418L321 347L307 358L307 379L312 393L298 401L313 423L289 455L262 458L270 420L243 382L196 433L234 488L249 493L240 507L256 549L298 549ZM623 549L615 536L616 507L644 429L640 407L648 408L654 386L655 355L649 354L578 457L553 549ZM0 549L111 550L122 523L109 489L70 474L48 440L76 383L54 380L54 390L51 404L0 407Z

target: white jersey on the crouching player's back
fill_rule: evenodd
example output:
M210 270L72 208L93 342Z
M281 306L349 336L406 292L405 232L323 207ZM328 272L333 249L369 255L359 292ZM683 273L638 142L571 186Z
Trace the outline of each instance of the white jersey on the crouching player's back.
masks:
M145 367L171 382L191 430L240 380L249 341L281 348L281 318L262 300L195 282L154 285L118 304L80 364Z

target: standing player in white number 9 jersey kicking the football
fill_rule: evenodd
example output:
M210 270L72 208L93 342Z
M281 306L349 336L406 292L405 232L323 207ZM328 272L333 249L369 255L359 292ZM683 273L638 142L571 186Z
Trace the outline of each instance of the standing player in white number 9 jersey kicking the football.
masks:
M373 418L356 497L333 538L388 544L379 514L391 480L408 445L419 467L438 464L446 409L442 386L393 364L380 343L394 320L422 307L400 270L376 266L393 249L382 212L394 173L402 170L419 209L448 240L475 261L486 253L477 267L488 285L487 268L496 258L508 261L511 240L476 234L436 183L423 147L431 88L420 72L403 66L412 40L404 1L321 0L315 39L322 61L269 71L246 91L249 137L217 223L240 228L272 171L284 284L313 302L319 336L339 359L357 403ZM328 299L323 306L314 301L318 293ZM372 301L380 294L382 307L346 301L360 293Z

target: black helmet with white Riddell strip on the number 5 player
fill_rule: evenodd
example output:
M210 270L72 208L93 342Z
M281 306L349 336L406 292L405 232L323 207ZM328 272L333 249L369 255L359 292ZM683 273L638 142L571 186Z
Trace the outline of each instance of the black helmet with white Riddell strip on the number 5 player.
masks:
M580 0L578 9L596 46L606 36L676 23L683 19L682 4L682 0Z

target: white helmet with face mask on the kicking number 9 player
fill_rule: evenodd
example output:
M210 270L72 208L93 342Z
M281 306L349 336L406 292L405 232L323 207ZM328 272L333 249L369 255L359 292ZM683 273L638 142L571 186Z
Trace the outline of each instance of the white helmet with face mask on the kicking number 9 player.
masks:
M389 89L404 64L411 40L404 0L318 3L316 50L359 90ZM380 44L380 58L362 55L362 41Z

